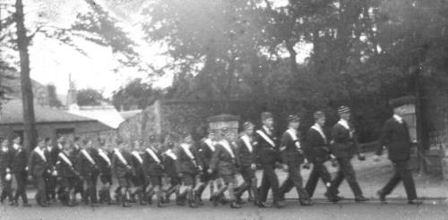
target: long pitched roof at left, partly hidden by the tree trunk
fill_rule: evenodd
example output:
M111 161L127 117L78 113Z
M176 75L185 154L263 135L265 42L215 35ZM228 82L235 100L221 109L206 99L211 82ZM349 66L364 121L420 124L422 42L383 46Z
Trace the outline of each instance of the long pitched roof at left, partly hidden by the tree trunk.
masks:
M66 113L63 110L47 106L34 105L36 123L79 123L96 120ZM23 123L23 107L21 99L12 99L2 105L0 124Z

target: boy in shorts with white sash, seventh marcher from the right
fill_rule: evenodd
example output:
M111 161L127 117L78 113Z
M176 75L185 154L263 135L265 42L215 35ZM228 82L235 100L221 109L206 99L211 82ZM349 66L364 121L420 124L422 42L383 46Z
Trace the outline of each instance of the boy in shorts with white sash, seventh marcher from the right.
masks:
M235 198L235 187L237 185L236 174L239 161L234 149L235 147L231 144L231 132L228 128L222 128L220 132L221 136L224 136L224 138L216 143L213 157L211 157L210 168L207 172L211 174L214 171L217 171L225 185L213 193L212 200L214 205L217 206L219 199L224 192L228 190L230 207L239 208L241 206L237 203Z

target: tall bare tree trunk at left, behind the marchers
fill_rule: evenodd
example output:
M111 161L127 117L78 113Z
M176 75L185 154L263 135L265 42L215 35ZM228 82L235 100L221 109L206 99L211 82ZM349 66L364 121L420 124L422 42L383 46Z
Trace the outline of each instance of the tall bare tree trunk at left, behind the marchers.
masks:
M27 37L22 0L15 2L15 22L17 25L17 46L21 59L21 83L22 83L22 103L23 103L23 141L24 147L32 149L36 147L37 130L34 118L34 103L32 85L30 80L30 55L28 46L30 40Z

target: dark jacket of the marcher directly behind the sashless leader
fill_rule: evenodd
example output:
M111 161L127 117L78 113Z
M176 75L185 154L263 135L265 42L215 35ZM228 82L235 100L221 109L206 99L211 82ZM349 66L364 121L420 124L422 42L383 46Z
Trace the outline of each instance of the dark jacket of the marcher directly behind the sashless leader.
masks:
M350 125L350 128L353 126ZM352 133L353 135L350 137L350 131L340 123L333 126L331 149L334 157L351 158L359 153L357 135L353 130Z

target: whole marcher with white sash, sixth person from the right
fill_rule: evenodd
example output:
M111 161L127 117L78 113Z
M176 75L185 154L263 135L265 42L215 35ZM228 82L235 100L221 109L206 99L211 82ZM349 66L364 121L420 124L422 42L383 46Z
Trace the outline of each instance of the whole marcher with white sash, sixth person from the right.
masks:
M243 124L243 134L237 140L237 157L239 157L239 172L245 182L239 185L236 191L237 201L241 202L241 195L246 191L252 191L254 204L258 205L258 196L256 190L257 179L255 176L255 152L254 152L254 124L246 122ZM250 196L249 196L250 198ZM250 199L249 199L250 200Z

